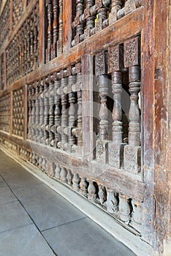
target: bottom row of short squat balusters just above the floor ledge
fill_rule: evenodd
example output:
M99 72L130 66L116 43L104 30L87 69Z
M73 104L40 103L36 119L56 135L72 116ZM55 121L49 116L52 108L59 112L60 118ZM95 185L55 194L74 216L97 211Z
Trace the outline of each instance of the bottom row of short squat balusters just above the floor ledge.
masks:
M24 157L27 157L29 162L47 173L50 178L55 178L66 184L91 202L102 207L116 219L121 220L125 225L134 227L141 233L142 203L140 201L132 200L126 195L121 195L113 189L104 187L102 184L98 185L96 181L83 176L80 177L79 174L66 169L63 165L54 164L34 152L28 154L25 151Z

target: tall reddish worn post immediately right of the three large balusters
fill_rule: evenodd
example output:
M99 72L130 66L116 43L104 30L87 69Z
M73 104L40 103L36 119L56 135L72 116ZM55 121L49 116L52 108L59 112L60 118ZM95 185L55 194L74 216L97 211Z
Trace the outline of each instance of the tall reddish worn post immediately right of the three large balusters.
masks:
M145 28L142 31L142 178L145 183L145 198L142 204L142 239L153 244L153 74L154 74L154 36L155 13L153 1L144 1Z

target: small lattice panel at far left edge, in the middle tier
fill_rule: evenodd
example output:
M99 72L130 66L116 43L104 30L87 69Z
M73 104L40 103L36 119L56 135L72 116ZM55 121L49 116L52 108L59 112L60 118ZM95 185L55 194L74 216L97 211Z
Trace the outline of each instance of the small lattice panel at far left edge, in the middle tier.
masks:
M10 96L4 96L0 99L0 129L9 132L10 121Z

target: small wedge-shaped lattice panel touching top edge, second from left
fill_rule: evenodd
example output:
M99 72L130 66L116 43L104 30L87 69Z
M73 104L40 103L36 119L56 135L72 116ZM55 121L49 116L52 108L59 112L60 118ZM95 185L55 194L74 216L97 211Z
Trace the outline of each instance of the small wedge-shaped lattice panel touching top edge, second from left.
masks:
M23 14L23 1L12 0L12 26L18 23L21 15Z

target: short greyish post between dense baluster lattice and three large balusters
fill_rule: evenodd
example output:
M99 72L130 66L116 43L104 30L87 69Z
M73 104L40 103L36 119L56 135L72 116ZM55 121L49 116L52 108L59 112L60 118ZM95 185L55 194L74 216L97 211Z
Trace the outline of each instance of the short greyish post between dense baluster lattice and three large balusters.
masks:
M94 61L93 56L82 56L82 104L83 104L83 161L91 162L94 158L94 111L93 111L93 89L94 89Z

